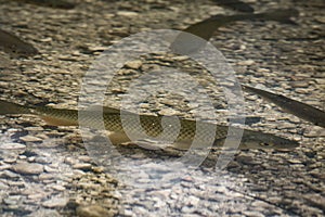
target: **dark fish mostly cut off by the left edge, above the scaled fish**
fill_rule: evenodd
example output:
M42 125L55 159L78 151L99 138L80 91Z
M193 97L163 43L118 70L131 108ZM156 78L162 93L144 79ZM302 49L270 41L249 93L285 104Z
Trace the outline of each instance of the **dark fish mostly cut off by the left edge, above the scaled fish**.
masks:
M14 58L27 58L39 53L30 43L2 29L0 29L0 49Z

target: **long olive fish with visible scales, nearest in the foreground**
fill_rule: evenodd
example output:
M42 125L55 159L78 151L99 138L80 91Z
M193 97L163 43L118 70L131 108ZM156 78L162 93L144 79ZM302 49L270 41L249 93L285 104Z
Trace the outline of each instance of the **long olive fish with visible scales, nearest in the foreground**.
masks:
M178 126L169 124L167 125L166 130L161 124L164 118L166 120L166 116L145 114L139 115L114 107L104 107L102 111L99 111L100 110L93 108L78 111L54 108L50 106L27 106L3 100L0 101L0 115L37 115L47 122L47 124L53 126L81 126L94 129L101 129L104 123L105 129L109 132L109 140L114 145L146 139L143 138L145 136L159 140L162 132L165 135L164 138L161 137L162 140L168 140L169 138L173 137L174 132L179 129L179 133L177 135L176 139L168 144L168 146L177 150L188 150L192 149L191 145L195 138L198 138L196 141L198 141L199 144L198 146L195 145L195 148L204 149L211 143L213 143L214 146L222 146L227 137L229 129L233 128L231 131L236 131L239 129L236 127L221 126L207 122L179 118L179 128ZM133 119L136 117L139 117L140 124L133 122ZM127 118L127 126L122 122L122 118ZM196 131L197 124L203 127L199 128L200 130ZM125 129L128 129L128 132L131 131L133 135L135 135L135 139L133 137L130 139L130 135ZM141 129L145 131L145 136L140 132ZM233 136L236 137L236 135ZM244 129L239 149L294 149L298 145L299 143L294 140L261 131Z

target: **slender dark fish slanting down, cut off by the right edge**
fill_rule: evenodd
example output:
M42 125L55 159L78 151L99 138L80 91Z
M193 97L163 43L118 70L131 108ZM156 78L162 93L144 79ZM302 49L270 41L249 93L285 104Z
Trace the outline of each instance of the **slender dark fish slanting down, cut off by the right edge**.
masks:
M283 111L290 113L301 119L325 128L325 112L309 104L289 99L282 94L272 93L265 90L242 85L244 91L255 93L262 99L280 106Z

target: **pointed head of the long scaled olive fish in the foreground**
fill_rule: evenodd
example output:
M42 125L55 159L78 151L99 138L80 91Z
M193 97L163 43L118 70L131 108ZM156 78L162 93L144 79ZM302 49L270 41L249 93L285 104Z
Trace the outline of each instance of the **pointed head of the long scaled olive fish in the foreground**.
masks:
M277 137L275 135L244 131L240 149L295 149L299 145L297 141Z

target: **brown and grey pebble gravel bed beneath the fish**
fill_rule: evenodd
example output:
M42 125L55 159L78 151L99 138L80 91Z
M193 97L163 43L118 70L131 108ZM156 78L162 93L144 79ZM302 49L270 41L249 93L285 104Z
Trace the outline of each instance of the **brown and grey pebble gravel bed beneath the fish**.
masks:
M235 13L209 0L72 2L75 8L65 10L0 1L1 28L40 52L14 59L0 51L1 100L77 108L82 76L107 46L135 33L182 29L217 13ZM238 80L324 110L324 2L246 2L256 11L296 8L299 17L295 26L237 22L214 34L211 42ZM166 73L176 68L195 82ZM152 76L145 77L150 71ZM144 82L129 90L139 78ZM126 108L140 113L211 120L211 102L218 122L225 124L227 103L211 80L186 56L147 54L116 72L104 104L118 107L125 99L131 102ZM93 82L100 87L103 81ZM153 94L126 98L135 90ZM242 150L222 171L214 170L221 151L212 150L199 167L178 169L171 163L183 153L174 150L126 144L117 154L100 142L101 132L53 127L29 115L0 116L0 215L323 216L324 129L252 94L245 93L245 110L240 115L258 119L247 128L298 140L300 146Z

